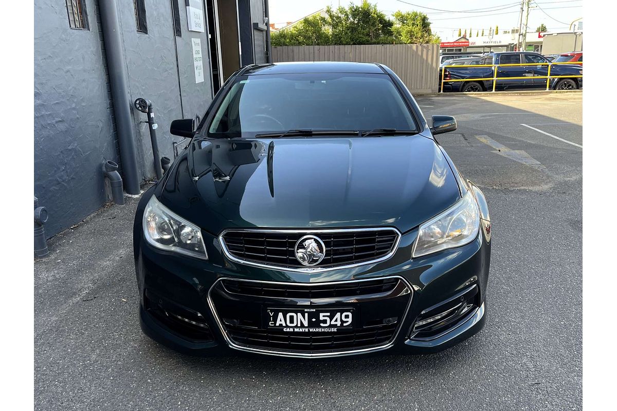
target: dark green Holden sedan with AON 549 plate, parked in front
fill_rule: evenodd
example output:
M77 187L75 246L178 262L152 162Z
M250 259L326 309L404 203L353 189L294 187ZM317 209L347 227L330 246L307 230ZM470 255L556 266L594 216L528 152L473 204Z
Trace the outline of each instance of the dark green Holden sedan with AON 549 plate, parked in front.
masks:
M193 354L436 352L486 319L491 219L405 85L375 63L251 65L144 193L141 327ZM238 350L238 351L233 351Z

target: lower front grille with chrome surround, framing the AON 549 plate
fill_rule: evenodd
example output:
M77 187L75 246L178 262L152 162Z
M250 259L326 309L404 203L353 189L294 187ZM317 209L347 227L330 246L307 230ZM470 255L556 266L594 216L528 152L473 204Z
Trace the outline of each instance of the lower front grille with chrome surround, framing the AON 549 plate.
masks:
M236 348L328 356L379 349L394 340L405 319L412 288L401 277L329 283L281 283L221 279L209 302L223 334ZM354 328L299 332L268 327L267 309L353 309Z

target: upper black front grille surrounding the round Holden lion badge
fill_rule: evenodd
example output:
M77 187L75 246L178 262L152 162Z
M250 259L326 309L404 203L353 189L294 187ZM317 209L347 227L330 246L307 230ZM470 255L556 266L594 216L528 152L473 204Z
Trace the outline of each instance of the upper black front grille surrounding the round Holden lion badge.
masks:
M346 266L385 258L399 239L395 229L358 230L228 230L222 242L231 256L241 261L288 268L307 268L296 259L296 243L307 234L325 245L323 260L310 268Z

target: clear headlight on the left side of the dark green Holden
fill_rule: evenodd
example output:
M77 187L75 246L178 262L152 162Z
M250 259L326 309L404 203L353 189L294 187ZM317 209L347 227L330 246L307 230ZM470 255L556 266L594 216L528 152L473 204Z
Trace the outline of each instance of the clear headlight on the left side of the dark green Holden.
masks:
M201 230L162 205L153 195L144 211L144 237L161 250L208 259Z

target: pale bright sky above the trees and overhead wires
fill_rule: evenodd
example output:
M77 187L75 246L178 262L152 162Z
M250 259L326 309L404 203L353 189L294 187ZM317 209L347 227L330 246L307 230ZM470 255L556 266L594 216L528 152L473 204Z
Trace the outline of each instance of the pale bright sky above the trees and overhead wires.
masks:
M396 10L421 11L428 15L431 30L439 35L442 41L452 41L458 38L458 29L462 31L476 30L487 32L490 27L499 25L500 30L518 28L520 1L516 0L369 0L377 4L377 8L387 15ZM270 22L282 26L285 22L294 22L323 7L349 6L349 0L269 0ZM359 4L362 0L355 0ZM411 3L411 4L410 4ZM529 11L528 31L536 31L536 27L544 23L549 31L568 31L573 20L582 17L582 0L532 0ZM415 4L413 6L412 4ZM534 7L535 6L535 7ZM431 10L440 9L440 10ZM479 9L479 10L478 10ZM488 10L487 10L488 9ZM466 12L444 12L465 11ZM524 17L523 17L524 23ZM487 33L485 33L487 34Z

